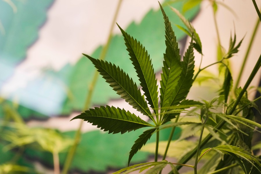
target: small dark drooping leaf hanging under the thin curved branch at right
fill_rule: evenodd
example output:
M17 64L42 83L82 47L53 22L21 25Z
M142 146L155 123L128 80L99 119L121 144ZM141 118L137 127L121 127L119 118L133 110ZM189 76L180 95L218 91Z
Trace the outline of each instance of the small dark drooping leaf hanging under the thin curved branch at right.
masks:
M229 68L226 68L225 80L224 80L222 89L221 89L221 91L219 93L219 95L224 95L225 103L227 102L232 83L233 83L233 80L232 80L232 76L231 76L230 70L229 70Z

